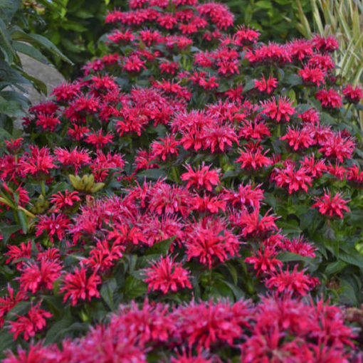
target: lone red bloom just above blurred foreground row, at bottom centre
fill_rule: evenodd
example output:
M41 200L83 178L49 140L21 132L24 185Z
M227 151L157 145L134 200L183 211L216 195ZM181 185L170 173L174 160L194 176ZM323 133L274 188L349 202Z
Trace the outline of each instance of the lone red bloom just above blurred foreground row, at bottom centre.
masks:
M161 290L166 294L170 291L175 293L179 288L191 289L189 271L174 260L175 258L170 258L170 256L160 258L159 261L153 263L151 268L145 270L147 278L144 281L148 283L149 291Z

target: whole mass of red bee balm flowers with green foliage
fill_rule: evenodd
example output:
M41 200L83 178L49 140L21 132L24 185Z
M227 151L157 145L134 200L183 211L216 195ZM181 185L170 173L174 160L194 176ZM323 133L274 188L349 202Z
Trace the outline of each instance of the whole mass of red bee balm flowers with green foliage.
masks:
M110 53L1 133L4 362L360 362L330 305L363 277L335 39L264 44L196 0L106 22Z

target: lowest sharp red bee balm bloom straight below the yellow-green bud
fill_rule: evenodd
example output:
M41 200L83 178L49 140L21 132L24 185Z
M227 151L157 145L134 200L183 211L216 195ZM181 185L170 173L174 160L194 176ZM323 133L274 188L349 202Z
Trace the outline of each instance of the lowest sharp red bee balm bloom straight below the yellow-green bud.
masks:
M86 275L87 270L84 267L75 268L73 273L67 273L64 277L63 288L61 292L65 293L63 301L70 298L72 305L77 304L79 300L91 300L91 298L99 298L100 293L97 286L101 283L100 276L93 273L89 277Z

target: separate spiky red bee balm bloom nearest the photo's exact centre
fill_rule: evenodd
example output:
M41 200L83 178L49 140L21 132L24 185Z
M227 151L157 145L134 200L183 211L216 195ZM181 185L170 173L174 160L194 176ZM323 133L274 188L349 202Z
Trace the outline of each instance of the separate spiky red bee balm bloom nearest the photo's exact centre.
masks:
M204 163L194 170L190 165L185 166L188 172L181 174L181 180L186 180L186 188L194 186L196 189L206 189L211 191L214 185L219 184L219 169L209 170L211 165L205 166Z

